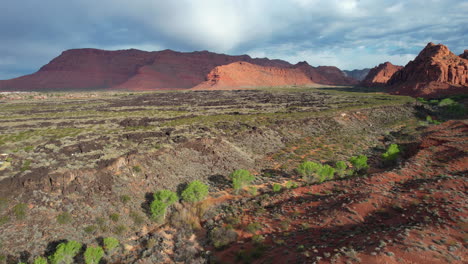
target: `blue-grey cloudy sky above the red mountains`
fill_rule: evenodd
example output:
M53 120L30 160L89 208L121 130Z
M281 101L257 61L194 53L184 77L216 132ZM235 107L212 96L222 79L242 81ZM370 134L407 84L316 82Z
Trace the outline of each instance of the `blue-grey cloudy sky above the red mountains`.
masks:
M0 79L72 48L209 50L351 70L468 48L465 0L6 0Z

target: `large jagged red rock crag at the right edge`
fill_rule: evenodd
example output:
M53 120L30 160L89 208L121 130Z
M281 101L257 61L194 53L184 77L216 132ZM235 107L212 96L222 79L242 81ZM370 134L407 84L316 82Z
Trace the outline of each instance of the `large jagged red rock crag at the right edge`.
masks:
M468 93L467 52L457 56L441 44L429 43L413 61L387 82L394 94L438 97Z

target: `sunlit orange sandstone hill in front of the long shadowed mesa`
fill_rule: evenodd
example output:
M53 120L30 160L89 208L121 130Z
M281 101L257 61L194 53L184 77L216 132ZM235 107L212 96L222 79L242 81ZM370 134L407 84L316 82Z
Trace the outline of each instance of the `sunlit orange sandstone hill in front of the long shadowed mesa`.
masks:
M295 68L278 68L234 62L214 68L206 81L194 89L230 89L260 86L311 85L304 72Z

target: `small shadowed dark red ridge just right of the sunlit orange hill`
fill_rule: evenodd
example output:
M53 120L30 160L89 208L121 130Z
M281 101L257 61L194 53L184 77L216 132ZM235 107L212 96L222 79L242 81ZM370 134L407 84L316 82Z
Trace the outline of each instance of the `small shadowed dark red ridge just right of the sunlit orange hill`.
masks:
M293 66L299 69L313 82L327 85L354 85L358 81L346 76L340 69L334 66L310 66L307 62L299 62Z

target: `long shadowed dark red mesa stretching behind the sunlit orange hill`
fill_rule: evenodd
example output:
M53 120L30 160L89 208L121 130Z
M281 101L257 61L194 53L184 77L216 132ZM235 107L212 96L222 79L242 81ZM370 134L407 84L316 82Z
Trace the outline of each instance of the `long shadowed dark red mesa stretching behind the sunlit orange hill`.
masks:
M349 85L356 82L336 67L291 65L282 60L252 59L248 55L229 56L207 51L74 49L63 52L36 73L0 81L0 90L187 89L206 81L206 76L215 67L237 61L276 68L301 68L313 82L320 84Z

